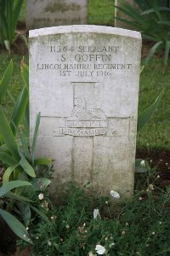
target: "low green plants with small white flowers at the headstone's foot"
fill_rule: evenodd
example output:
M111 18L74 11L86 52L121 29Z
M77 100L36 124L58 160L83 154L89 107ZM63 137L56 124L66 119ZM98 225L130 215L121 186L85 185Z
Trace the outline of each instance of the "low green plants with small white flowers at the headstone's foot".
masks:
M156 194L147 185L144 192L136 190L133 198L117 207L111 207L112 198L89 198L74 185L60 207L44 196L42 209L50 223L42 218L31 222L31 255L98 255L98 244L105 247L101 255L168 255L169 195ZM156 189L155 184L153 187ZM94 218L94 208L99 209L99 218ZM18 244L20 248L27 245L24 241Z

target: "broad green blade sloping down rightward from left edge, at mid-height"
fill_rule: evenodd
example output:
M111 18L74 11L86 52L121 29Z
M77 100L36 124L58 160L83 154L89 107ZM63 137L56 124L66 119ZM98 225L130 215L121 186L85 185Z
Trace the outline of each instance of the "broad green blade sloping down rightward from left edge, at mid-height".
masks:
M3 138L3 142L7 145L8 151L12 154L15 160L20 160L20 155L18 154L17 144L14 140L13 132L11 131L8 121L3 113L3 108L0 106L0 137Z

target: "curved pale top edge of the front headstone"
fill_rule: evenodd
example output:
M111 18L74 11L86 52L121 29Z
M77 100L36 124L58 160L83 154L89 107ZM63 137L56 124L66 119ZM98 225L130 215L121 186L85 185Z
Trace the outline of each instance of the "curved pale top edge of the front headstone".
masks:
M111 26L95 26L95 25L71 25L71 26L51 26L39 29L34 29L29 32L29 38L36 38L39 36L48 36L62 33L102 33L115 34L128 38L141 39L140 32L127 30L119 27Z

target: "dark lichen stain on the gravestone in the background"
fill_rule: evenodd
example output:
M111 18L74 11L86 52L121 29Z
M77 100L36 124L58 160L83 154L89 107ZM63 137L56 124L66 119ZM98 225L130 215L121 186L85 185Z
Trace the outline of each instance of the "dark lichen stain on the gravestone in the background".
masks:
M48 3L48 5L45 8L46 12L55 13L56 11L60 11L61 13L64 13L65 11L79 11L81 9L80 5L77 5L75 3Z

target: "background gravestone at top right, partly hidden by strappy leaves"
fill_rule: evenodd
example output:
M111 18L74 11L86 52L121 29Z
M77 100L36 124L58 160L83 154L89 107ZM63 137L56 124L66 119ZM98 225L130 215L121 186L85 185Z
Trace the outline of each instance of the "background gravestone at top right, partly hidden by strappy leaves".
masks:
M123 3L128 3L131 7L138 9L138 6L136 3L134 3L134 0L115 0L115 5L117 7L123 7ZM129 20L135 22L132 18L130 18L128 15L125 15L120 9L115 8L115 26L116 27L122 27L127 29L134 29L133 26L130 24L127 24L126 22L123 22L122 20L117 20L117 18Z

